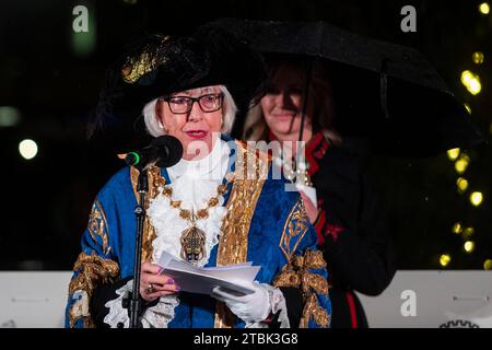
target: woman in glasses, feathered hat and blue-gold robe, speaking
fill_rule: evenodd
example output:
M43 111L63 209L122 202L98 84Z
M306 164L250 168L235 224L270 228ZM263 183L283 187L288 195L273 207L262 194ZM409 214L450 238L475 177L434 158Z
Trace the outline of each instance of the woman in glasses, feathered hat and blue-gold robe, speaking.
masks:
M329 326L326 264L302 197L272 178L268 156L227 136L237 104L260 83L255 59L209 26L191 37L148 36L109 74L120 100L141 105L148 132L173 136L184 149L177 164L147 167L143 327ZM70 282L68 327L129 326L138 175L122 168L94 201ZM198 294L162 272L163 253L198 267L261 268L250 294Z

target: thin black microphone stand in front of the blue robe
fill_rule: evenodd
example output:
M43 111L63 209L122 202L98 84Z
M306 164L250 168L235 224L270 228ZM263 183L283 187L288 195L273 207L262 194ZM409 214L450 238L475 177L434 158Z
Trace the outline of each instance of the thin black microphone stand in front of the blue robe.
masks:
M134 244L134 266L133 266L133 291L131 293L131 300L129 302L130 313L130 328L139 328L139 313L142 310L142 302L140 300L140 272L142 262L142 235L143 223L145 221L145 195L149 191L149 177L147 170L137 167L139 170L139 179L137 185L137 191L139 199L133 212L137 219L137 235Z

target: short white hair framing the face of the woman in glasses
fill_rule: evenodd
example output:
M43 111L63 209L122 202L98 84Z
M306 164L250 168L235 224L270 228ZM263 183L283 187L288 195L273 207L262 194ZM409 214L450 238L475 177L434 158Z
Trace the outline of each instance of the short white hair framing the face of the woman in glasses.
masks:
M224 85L219 85L219 89L224 94L224 103L222 105L223 121L221 132L229 133L231 132L234 120L236 118L237 106L227 88L225 88ZM149 102L142 110L147 130L155 138L167 133L161 122L161 119L157 116L156 106L157 98Z

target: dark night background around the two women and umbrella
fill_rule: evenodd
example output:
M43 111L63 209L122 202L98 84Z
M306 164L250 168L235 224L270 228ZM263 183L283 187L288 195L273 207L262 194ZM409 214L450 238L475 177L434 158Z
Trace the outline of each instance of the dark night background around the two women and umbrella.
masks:
M0 149L2 210L0 270L70 270L79 254L97 190L122 164L86 142L84 126L97 101L106 66L142 32L190 33L222 18L323 20L354 33L408 45L434 66L456 97L471 108L488 142L467 150L461 175L446 153L429 159L370 156L371 173L389 207L399 269L484 269L492 259L490 202L492 147L492 14L476 0L448 1L72 1L8 0L0 4ZM72 10L90 12L90 34L75 34ZM417 9L417 32L400 30L403 5ZM472 61L481 51L483 63ZM471 70L481 92L460 82ZM356 81L353 82L356 84ZM5 115L17 112L8 126ZM3 121L2 121L3 120ZM37 156L26 161L19 143L33 139ZM419 136L415 135L415 142ZM456 180L468 183L464 194ZM480 206L472 191L483 194ZM453 232L460 222L472 228ZM464 242L475 242L466 253ZM443 267L440 257L450 256ZM492 261L490 261L492 262Z

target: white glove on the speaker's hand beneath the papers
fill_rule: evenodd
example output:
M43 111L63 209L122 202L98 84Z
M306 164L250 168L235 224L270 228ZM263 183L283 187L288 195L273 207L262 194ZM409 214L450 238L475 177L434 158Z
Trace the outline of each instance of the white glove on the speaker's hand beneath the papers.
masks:
M261 322L267 319L271 312L271 302L268 295L267 287L254 282L248 285L255 293L237 296L226 290L215 287L212 290L212 296L225 305L244 322Z

